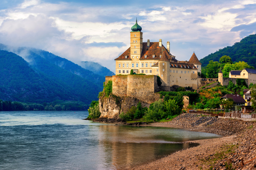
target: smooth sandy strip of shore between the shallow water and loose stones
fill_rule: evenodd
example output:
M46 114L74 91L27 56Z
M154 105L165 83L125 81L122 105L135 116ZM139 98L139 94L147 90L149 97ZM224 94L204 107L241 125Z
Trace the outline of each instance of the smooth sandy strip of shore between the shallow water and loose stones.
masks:
M199 146L174 152L173 154L132 169L205 169L201 159L220 151L223 145L235 142L234 136L188 141L199 143Z

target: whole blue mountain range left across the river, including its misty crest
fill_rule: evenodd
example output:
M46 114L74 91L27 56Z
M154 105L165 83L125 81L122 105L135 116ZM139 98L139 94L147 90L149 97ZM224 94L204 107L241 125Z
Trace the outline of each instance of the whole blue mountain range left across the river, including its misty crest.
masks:
M97 100L104 77L83 69L65 58L33 48L10 49L22 57L0 50L0 99L43 103L76 100L90 104ZM25 55L26 53L26 55Z

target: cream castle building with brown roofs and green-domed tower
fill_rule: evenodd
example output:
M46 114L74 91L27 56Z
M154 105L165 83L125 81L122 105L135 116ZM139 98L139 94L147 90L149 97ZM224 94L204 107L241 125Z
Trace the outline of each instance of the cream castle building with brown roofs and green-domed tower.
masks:
M162 45L162 39L159 42L150 42L148 39L147 43L143 43L142 28L137 21L131 29L131 46L115 59L116 75L130 74L131 70L137 74L159 75L167 91L173 85L198 88L197 74L201 73L202 64L195 53L188 62L178 61L170 53L169 41L167 48Z

